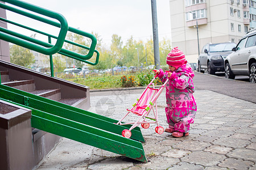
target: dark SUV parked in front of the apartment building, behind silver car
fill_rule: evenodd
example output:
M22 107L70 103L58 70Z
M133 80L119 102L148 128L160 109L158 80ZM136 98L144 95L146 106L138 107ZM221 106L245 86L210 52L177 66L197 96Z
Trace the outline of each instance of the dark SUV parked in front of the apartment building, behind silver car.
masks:
M205 44L198 59L198 71L208 74L215 74L216 71L225 71L224 59L236 46L234 42L223 42L218 44Z

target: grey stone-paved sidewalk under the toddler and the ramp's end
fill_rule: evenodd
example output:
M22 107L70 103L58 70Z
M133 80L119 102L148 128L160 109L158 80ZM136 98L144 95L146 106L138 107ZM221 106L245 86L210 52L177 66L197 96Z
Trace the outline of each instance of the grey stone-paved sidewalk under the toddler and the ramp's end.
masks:
M118 120L139 95L92 95L90 111ZM152 124L141 128L148 163L63 138L38 169L256 169L256 104L208 90L194 96L198 111L188 137L156 134ZM160 125L166 128L165 91L157 101Z

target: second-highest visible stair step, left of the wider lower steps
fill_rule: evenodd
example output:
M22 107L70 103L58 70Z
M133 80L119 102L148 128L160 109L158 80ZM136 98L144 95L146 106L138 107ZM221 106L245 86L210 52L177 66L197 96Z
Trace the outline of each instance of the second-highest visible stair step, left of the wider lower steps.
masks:
M2 84L26 92L35 91L35 80L14 80L12 82L5 82Z

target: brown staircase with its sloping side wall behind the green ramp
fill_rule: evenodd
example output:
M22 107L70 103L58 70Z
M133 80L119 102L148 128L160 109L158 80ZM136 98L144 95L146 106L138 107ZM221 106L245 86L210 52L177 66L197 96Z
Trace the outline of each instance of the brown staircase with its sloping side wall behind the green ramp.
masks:
M89 87L0 60L3 85L81 109L90 107Z

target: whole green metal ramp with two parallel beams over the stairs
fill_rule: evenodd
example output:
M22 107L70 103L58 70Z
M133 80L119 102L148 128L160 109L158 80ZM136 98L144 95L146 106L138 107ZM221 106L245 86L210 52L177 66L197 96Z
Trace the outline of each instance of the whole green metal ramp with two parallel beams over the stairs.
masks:
M2 84L0 99L31 109L33 128L147 162L141 143L144 139L139 128L132 131L131 139L127 139L121 133L129 126L115 125L117 120Z

